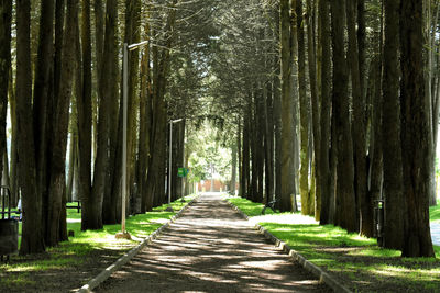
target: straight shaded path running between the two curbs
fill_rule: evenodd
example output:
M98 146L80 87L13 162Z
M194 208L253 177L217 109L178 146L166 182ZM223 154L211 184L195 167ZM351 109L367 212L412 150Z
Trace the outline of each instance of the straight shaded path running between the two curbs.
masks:
M217 195L201 195L96 292L331 292Z

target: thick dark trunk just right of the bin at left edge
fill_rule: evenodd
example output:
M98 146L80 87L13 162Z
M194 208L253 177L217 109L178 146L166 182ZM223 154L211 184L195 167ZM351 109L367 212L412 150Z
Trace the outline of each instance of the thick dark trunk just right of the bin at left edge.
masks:
M37 253L45 250L42 218L42 196L36 188L36 164L32 117L32 71L31 71L31 1L16 0L16 131L18 156L23 224L20 255ZM20 159L21 158L21 159Z

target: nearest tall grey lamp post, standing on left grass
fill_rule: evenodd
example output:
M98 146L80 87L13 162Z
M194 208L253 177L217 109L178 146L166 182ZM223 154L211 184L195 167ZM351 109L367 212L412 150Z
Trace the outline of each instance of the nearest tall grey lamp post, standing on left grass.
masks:
M125 199L127 199L127 121L128 121L128 100L129 100L129 50L134 50L139 47L148 44L148 41L144 41L138 44L123 45L123 59L122 59L122 90L123 90L123 105L122 105L122 216L121 216L121 232L117 234L117 238L130 239L130 234L125 230Z

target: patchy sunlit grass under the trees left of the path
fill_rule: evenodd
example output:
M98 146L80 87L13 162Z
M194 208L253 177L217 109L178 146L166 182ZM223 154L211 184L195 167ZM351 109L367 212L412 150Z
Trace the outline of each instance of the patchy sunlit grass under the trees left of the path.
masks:
M179 200L172 203L174 211L182 210L195 195L186 196L186 203ZM176 213L166 212L166 205L155 207L153 212L139 214L127 218L127 230L132 239L116 239L114 235L121 230L121 225L105 225L100 230L80 230L80 213L75 209L67 209L67 229L75 233L68 241L61 243L57 247L48 248L45 253L33 256L12 256L8 264L0 263L0 291L2 289L16 289L37 286L35 273L53 274L79 268L99 256L109 258L108 262L117 259L151 235L154 230L168 222ZM21 223L20 223L21 228ZM106 260L103 260L106 262ZM36 291L40 289L36 288Z

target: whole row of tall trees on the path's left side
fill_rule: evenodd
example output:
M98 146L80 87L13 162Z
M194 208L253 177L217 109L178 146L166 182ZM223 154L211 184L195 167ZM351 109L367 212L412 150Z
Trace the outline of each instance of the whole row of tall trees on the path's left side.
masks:
M10 167L3 180L14 203L22 199L21 253L67 239L75 189L81 229L121 221L123 43L147 41L128 58L128 212L166 201L168 121L200 105L193 95L216 42L210 9L183 0L0 2L0 170ZM185 124L173 127L173 170L184 164ZM173 178L176 198L183 187Z

